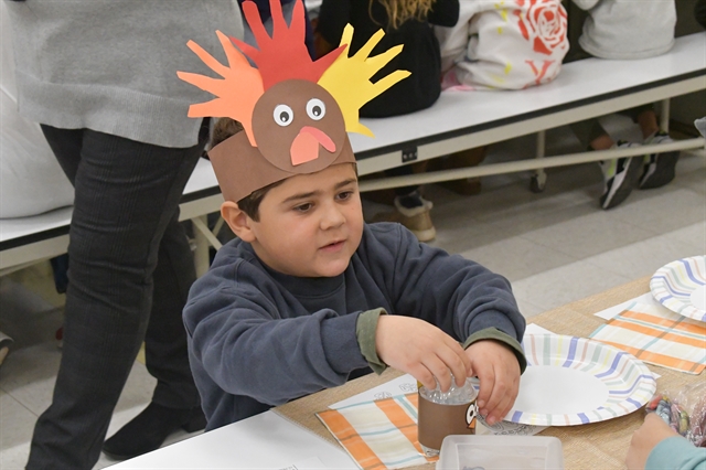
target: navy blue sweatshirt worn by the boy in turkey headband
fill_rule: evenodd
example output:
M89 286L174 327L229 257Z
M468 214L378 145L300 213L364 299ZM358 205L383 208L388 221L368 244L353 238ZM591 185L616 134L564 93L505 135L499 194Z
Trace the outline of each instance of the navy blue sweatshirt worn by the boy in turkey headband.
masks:
M332 278L276 273L236 239L218 250L184 309L206 429L371 372L356 323L374 309L424 319L466 344L503 341L524 368L525 320L510 282L420 244L402 225L366 225L349 267Z

